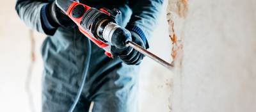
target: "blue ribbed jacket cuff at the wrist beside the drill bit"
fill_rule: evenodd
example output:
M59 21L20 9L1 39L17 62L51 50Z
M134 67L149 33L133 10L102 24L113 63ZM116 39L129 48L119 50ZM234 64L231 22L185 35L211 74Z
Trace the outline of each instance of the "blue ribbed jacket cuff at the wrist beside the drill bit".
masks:
M128 26L126 26L126 29L137 33L140 36L140 38L143 40L143 43L144 43L146 49L149 48L147 38L146 38L145 34L143 33L143 31L138 26L128 25Z

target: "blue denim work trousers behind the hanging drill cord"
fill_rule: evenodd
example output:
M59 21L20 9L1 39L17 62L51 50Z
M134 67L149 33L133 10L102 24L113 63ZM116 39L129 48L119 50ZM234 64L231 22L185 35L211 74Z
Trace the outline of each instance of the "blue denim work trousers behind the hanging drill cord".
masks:
M86 54L86 37L70 30L58 29L56 36L47 37L43 44L43 111L70 108L88 55L92 56L90 68L75 111L87 111L92 101L93 111L136 111L139 67L108 58L95 44L92 54Z

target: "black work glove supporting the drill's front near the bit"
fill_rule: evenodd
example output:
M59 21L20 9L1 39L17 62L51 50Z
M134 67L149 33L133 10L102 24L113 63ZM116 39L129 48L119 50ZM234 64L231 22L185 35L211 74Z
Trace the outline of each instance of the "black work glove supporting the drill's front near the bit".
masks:
M137 33L133 31L131 31L131 40L132 42L140 45L145 49L145 44L143 43L143 40ZM121 49L115 46L111 46L111 52L114 57L118 56L127 65L139 65L141 63L141 60L144 58L143 54L136 51L132 47L127 46Z

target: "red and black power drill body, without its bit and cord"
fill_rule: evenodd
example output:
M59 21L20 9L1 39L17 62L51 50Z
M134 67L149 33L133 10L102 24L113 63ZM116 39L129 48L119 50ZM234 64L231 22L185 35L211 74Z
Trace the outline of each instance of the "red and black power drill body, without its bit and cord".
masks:
M111 45L122 49L126 47L128 41L131 41L131 33L120 26L122 13L119 10L107 8L98 10L76 1L57 0L56 4L76 23L81 33L104 49L109 57L111 57Z

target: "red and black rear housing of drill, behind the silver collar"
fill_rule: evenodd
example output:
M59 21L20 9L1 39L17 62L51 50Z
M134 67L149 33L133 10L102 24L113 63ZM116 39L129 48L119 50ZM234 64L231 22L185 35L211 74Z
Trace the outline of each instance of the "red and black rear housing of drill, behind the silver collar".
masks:
M78 3L76 1L56 0L56 4L63 12L66 13L68 17L70 17L70 19L76 23L79 31L81 31L83 35L92 40L94 44L104 49L107 56L111 56L110 45L106 44L106 42L102 40L99 40L99 36L95 37L97 36L95 33L95 29L97 29L97 20L95 22L95 16L99 17L99 15L103 15L104 17L109 17L110 13L103 9L97 10L95 8L91 8L90 6Z

